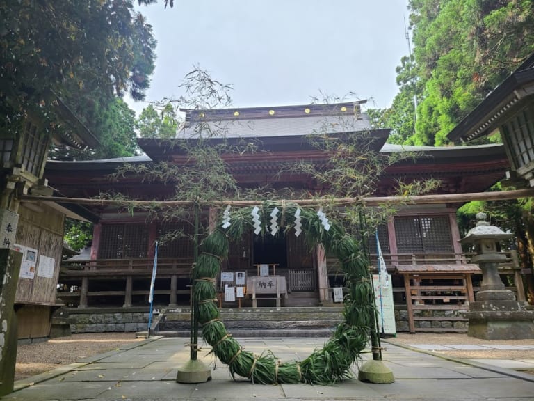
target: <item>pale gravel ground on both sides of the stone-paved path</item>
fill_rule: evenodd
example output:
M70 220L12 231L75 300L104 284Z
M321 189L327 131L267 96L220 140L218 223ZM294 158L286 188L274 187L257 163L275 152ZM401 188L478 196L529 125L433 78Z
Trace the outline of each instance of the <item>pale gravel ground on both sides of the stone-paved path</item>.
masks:
M135 333L91 333L73 334L70 337L59 337L46 343L19 345L17 350L17 368L15 380L24 379L39 373L68 365L80 359L95 354L116 349L142 341ZM387 342L401 344L474 344L474 345L534 345L534 338L529 340L480 340L468 337L463 333L399 333L396 337L388 338ZM387 343L382 347L386 349ZM532 351L494 350L487 351L435 351L439 354L462 359L534 359Z

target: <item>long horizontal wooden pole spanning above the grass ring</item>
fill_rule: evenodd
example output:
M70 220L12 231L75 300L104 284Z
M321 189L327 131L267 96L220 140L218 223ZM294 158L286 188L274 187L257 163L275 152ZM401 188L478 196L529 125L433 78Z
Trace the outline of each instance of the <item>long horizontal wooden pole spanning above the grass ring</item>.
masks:
M350 205L362 202L366 206L378 206L384 204L398 205L432 205L437 203L463 203L470 201L505 201L508 199L529 198L534 196L534 189L515 189L512 191L495 191L495 192L475 192L466 194L432 194L432 195L415 195L415 196L369 196L365 198L309 198L309 199L280 199L285 203L296 203L301 206L305 205ZM134 201L118 199L95 199L95 198L60 198L54 196L32 196L22 195L20 201L32 202L56 202L56 203L76 203L78 205L129 205L131 207L176 207L193 205L192 201ZM235 206L253 206L261 205L264 201L209 201L205 205L235 205ZM202 201L200 201L202 204Z

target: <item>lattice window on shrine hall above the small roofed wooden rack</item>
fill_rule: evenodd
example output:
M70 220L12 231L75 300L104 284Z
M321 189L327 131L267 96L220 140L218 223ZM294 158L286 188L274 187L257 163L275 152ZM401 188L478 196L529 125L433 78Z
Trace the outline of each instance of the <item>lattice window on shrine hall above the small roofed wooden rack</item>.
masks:
M398 253L453 251L448 216L395 217L394 223Z

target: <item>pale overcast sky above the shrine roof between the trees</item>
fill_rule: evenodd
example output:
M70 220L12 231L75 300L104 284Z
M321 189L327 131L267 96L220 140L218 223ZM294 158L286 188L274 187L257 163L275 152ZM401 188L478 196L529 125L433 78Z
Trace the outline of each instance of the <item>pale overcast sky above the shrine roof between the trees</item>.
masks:
M147 101L178 97L199 65L232 84L235 107L308 104L351 91L389 107L408 54L408 0L175 0L138 7L158 40ZM410 32L411 35L411 32ZM139 113L146 102L127 99Z

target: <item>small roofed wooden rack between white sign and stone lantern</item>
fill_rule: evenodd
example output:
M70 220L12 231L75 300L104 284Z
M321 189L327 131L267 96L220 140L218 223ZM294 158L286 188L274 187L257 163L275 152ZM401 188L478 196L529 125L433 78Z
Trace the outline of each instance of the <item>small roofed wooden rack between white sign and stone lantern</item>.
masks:
M477 265L397 265L406 291L406 306L410 333L415 333L415 321L467 321L462 316L441 316L434 311L469 310L474 301L471 274L480 274ZM421 312L419 312L421 311ZM464 331L464 329L418 327L418 331Z

